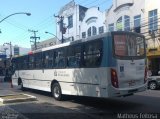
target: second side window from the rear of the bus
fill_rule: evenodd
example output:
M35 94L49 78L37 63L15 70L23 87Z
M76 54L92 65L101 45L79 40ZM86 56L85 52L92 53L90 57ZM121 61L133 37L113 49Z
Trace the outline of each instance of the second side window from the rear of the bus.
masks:
M67 67L80 67L81 45L70 46L67 49Z

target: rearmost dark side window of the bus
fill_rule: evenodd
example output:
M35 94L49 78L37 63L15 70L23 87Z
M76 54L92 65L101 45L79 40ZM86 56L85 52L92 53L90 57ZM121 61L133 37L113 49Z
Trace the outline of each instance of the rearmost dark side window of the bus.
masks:
M84 45L83 66L98 67L102 59L102 41L91 41Z

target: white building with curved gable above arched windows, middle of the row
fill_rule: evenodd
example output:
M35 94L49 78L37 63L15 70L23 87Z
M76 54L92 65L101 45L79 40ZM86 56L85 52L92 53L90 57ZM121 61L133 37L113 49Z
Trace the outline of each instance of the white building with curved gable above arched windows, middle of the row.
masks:
M87 38L104 32L106 32L105 12L99 11L98 7L89 8L80 23L80 38Z

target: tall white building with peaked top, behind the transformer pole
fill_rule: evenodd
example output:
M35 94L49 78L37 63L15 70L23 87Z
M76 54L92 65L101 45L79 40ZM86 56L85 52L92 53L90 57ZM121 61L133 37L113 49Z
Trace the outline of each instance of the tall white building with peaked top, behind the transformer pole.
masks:
M76 5L74 1L69 2L60 9L59 17L56 18L56 33L58 39L61 40L57 41L58 43L79 39L79 12L79 5Z

